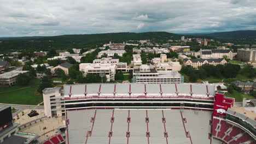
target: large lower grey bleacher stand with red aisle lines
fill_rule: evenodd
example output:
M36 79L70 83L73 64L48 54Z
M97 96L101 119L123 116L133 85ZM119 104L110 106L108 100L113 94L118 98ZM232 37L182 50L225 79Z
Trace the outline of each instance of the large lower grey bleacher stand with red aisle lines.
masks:
M96 113L96 115L95 115ZM183 121L183 118L186 121ZM94 117L91 122L91 117ZM67 111L69 143L210 143L211 111L88 109ZM79 116L79 117L75 117ZM114 121L111 121L112 117ZM130 121L128 121L130 118ZM164 121L163 121L164 119ZM194 122L197 123L194 123ZM93 126L92 126L93 125ZM112 129L111 129L112 128ZM88 130L91 136L86 137ZM112 132L109 135L109 132ZM187 135L188 133L188 135Z

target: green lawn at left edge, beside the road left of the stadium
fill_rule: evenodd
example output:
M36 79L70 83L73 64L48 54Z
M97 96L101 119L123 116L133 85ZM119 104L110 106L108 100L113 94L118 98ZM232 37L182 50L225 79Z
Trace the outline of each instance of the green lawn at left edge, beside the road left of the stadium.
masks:
M1 87L0 103L37 105L43 101L41 94L37 92L40 79L31 80L27 86Z

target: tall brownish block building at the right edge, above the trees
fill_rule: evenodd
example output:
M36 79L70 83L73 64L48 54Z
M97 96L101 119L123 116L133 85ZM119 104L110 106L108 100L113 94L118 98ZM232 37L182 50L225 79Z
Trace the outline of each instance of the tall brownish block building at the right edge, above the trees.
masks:
M237 49L236 58L243 62L256 62L256 49Z

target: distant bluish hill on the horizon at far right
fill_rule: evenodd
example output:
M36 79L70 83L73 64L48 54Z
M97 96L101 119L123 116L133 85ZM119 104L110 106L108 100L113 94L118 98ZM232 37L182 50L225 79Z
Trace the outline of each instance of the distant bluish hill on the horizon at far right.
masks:
M205 35L207 37L213 38L256 38L256 31L232 31L232 32L219 32L219 33L210 33L210 34L195 34L195 35Z

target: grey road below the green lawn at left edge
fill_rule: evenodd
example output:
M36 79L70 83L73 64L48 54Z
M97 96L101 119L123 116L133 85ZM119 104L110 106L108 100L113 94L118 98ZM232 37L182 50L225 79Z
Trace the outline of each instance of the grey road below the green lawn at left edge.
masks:
M37 105L15 105L15 104L0 104L0 107L4 106L11 106L11 108L19 109L18 111L13 113L13 117L20 113L21 111L24 111L25 109L44 109L44 106L37 106Z

